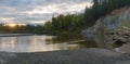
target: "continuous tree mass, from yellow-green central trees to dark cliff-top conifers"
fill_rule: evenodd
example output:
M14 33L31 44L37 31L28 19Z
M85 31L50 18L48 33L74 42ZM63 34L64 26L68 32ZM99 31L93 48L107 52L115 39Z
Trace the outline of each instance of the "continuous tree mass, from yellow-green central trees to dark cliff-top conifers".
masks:
M93 0L91 8L86 8L84 13L58 15L47 22L47 33L79 34L83 28L92 26L100 17L109 14L115 9L130 5L130 0Z

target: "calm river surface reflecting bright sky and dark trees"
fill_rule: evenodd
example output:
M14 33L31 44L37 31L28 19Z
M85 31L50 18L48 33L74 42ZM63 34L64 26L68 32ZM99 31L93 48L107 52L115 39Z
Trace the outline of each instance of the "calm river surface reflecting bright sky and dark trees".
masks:
M98 48L99 46L102 47L103 44L91 41L68 43L68 41L76 41L76 40L81 40L81 39L80 38L74 39L73 37L65 39L64 37L54 37L54 36L0 37L0 51L39 52L39 51L56 51L56 50L75 50L81 48ZM112 47L108 46L108 48Z

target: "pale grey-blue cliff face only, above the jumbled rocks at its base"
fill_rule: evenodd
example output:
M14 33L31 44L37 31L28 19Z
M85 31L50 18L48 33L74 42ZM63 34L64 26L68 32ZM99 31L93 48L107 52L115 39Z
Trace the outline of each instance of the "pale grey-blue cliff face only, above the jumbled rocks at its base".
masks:
M101 17L92 27L82 30L82 35L109 34L117 29L130 28L130 8L113 11L109 15Z

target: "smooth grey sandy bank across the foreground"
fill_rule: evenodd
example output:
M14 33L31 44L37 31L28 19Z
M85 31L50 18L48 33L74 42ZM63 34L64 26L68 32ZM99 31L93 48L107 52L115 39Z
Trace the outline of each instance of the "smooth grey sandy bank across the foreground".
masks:
M1 64L129 64L130 56L106 49L0 53Z

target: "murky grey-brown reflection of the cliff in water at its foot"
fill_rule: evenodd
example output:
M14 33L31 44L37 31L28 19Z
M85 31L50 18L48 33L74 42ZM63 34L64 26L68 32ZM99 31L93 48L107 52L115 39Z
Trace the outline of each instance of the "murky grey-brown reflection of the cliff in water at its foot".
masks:
M96 48L105 48L105 49L115 49L118 48L120 46L122 46L121 43L113 43L110 40L112 36L110 35L91 35L88 37L88 39L93 40L96 44Z

